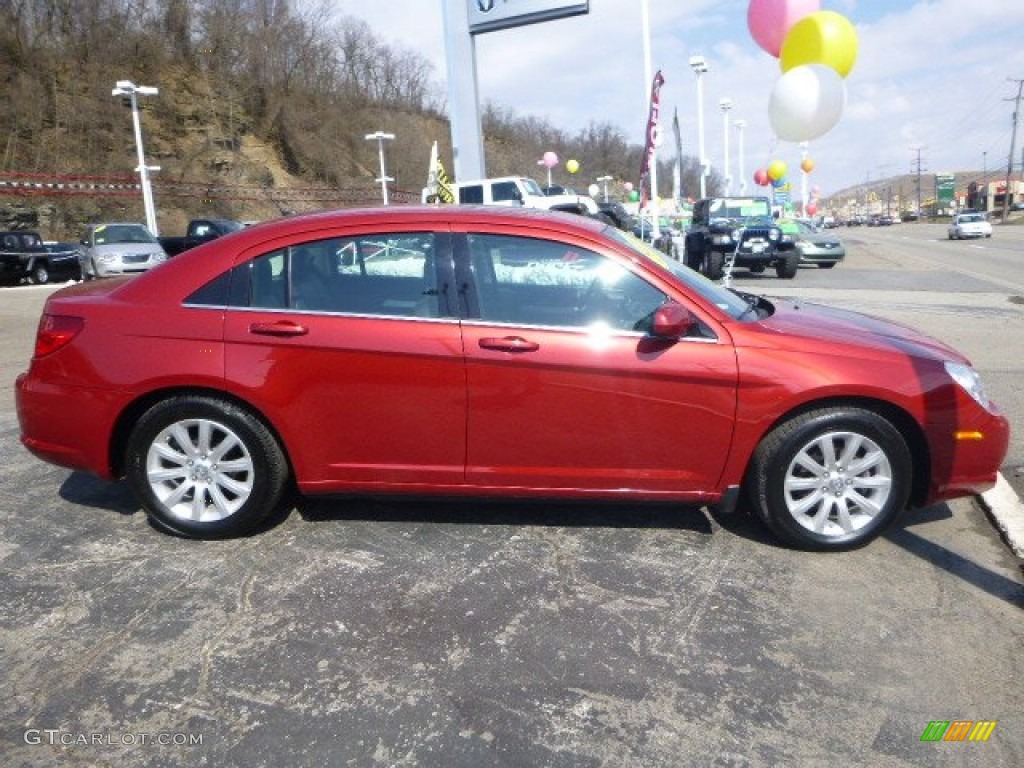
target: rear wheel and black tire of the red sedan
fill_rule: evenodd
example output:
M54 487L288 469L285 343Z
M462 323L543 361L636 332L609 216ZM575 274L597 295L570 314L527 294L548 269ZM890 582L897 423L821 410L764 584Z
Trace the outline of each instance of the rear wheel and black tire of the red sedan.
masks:
M253 530L288 479L285 454L266 426L213 397L153 406L132 430L125 458L128 480L153 523L194 539Z

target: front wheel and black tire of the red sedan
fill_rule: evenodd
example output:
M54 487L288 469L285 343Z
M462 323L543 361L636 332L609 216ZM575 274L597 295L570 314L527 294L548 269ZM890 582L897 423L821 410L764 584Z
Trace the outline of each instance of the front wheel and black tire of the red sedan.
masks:
M891 422L859 408L825 408L765 436L748 493L784 543L838 551L867 544L892 523L906 506L911 474L910 451Z

